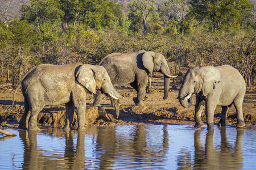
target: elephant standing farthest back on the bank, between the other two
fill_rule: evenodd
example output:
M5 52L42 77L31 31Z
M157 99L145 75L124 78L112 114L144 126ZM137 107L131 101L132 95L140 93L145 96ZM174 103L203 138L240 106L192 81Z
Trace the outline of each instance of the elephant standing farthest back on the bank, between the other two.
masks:
M164 74L164 97L167 99L170 69L164 56L160 53L139 50L132 53L112 53L104 57L99 65L105 67L114 87L130 84L137 91L136 105L143 105L148 74L159 71ZM100 105L101 92L97 91L93 105ZM113 104L113 103L112 103ZM117 117L119 116L119 100L115 103Z

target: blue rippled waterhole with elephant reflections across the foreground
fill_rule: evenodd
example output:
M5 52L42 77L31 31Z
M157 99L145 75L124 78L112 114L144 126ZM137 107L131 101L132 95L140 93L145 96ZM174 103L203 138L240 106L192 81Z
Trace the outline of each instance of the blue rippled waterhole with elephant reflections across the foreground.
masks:
M256 169L256 129L187 125L7 129L0 169Z

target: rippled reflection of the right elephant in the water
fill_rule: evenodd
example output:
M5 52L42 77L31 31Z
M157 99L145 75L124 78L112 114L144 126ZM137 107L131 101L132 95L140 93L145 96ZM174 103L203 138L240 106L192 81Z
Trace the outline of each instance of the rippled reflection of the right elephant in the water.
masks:
M213 145L213 131L208 131L205 139L205 147L201 144L201 130L196 130L194 134L195 165L192 167L190 153L178 158L178 169L242 169L242 136L245 129L237 128L237 137L234 147L232 147L226 137L226 128L220 127L221 143L220 148ZM218 145L219 146L219 145ZM179 154L179 155L182 155ZM190 163L188 163L190 161ZM187 167L184 167L184 162ZM181 167L181 165L183 167Z

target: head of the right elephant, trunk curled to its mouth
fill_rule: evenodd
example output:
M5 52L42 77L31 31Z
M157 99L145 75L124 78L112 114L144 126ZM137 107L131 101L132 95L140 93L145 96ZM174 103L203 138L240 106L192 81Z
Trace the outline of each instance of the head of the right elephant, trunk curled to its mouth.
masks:
M191 67L183 78L178 99L184 108L192 105L192 94L207 96L216 83L220 83L221 73L213 66Z

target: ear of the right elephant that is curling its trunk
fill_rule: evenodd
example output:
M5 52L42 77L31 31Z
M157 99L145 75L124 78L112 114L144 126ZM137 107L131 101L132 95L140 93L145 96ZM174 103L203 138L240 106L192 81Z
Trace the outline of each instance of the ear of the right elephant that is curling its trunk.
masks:
M201 67L202 69L203 67ZM206 66L202 70L203 85L202 91L203 95L207 96L216 86L216 83L220 83L221 73L215 67Z

